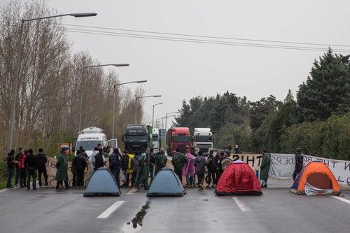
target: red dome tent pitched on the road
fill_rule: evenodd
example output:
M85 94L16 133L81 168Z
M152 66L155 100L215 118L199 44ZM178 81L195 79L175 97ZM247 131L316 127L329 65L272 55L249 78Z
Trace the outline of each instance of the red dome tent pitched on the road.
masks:
M258 177L246 162L235 161L226 167L216 186L216 195L262 195Z

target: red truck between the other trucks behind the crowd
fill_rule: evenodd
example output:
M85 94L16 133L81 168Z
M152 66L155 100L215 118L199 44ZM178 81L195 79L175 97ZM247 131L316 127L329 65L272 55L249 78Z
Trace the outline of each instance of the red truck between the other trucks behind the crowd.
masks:
M167 132L167 153L174 155L176 148L179 148L182 153L192 147L190 129L188 127L174 127Z

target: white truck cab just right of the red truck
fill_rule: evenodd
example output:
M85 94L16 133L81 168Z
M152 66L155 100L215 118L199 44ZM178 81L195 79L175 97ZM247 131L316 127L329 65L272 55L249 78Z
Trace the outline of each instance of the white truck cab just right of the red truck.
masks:
M193 147L196 151L202 151L203 154L213 150L213 134L210 128L195 128L193 132Z

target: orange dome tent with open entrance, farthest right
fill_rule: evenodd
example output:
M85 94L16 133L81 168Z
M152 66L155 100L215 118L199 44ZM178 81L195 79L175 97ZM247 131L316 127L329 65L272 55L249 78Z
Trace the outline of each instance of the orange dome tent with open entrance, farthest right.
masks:
M340 195L340 186L332 171L318 160L300 171L290 191L298 195Z

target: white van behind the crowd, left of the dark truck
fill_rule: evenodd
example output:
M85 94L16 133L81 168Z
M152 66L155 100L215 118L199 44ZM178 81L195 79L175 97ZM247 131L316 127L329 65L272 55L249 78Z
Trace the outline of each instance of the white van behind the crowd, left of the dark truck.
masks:
M85 149L85 152L89 157L94 151L94 147L97 146L97 144L101 144L102 148L109 146L111 148L111 151L113 148L118 147L117 139L111 139L107 141L106 134L102 132L103 129L100 129L98 127L88 127L83 129L80 132L78 139L76 140L74 155L76 155L76 151L79 150L80 146Z

